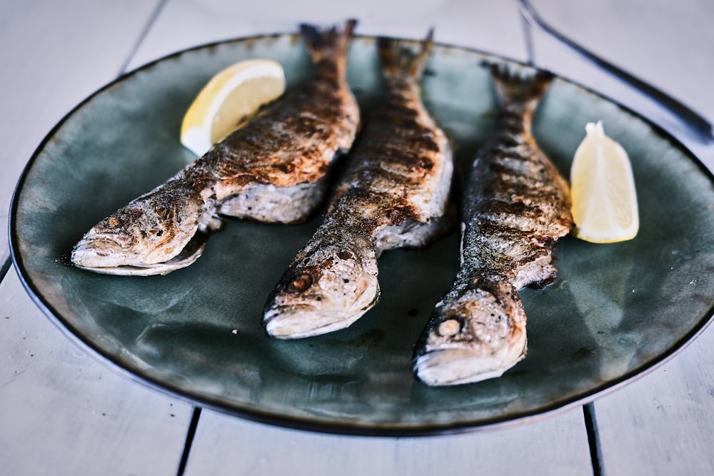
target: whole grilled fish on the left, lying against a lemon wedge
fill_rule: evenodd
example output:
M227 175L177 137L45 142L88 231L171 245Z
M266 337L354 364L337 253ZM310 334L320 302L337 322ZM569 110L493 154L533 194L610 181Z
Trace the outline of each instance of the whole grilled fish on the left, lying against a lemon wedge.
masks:
M356 21L342 31L301 25L313 76L214 145L173 178L91 228L72 262L97 273L166 274L193 263L221 216L305 220L328 189L326 173L356 136L346 82Z

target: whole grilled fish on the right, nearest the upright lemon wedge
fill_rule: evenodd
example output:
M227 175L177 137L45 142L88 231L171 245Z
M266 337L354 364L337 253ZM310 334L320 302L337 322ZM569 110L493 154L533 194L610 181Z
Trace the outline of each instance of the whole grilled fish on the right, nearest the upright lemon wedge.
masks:
M500 376L526 354L518 290L555 279L551 247L570 231L570 192L531 136L552 76L492 67L500 127L473 162L463 196L461 266L415 346L428 385Z

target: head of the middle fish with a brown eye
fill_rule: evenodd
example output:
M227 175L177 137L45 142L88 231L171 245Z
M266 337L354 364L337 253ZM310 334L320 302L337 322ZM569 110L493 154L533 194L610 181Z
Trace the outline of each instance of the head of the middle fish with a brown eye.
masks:
M303 338L346 328L379 298L376 257L321 249L293 263L266 303L263 325L276 338Z

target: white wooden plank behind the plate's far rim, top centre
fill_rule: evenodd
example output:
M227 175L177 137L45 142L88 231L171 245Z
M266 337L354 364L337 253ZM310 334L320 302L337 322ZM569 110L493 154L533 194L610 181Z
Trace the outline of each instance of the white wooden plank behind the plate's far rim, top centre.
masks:
M260 8L221 0L172 0L129 63L135 68L180 49L223 39L296 31L297 24L334 24L359 20L358 34L422 38L433 26L436 41L470 46L525 59L523 31L512 2L328 0L298 3L262 0Z

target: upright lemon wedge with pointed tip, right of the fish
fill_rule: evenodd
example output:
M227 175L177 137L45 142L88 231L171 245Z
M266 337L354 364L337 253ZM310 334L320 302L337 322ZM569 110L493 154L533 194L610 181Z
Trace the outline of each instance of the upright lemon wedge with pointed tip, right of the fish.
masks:
M592 243L635 238L640 226L630 158L605 136L603 123L588 123L570 168L573 236Z

